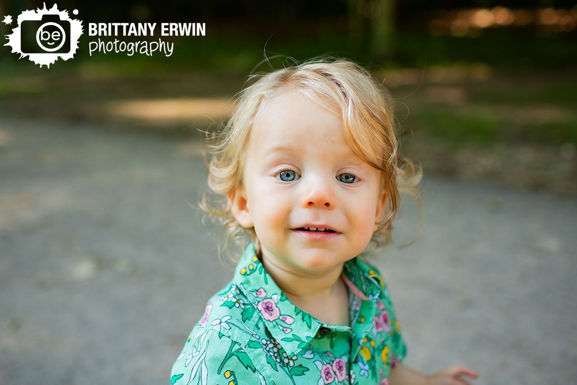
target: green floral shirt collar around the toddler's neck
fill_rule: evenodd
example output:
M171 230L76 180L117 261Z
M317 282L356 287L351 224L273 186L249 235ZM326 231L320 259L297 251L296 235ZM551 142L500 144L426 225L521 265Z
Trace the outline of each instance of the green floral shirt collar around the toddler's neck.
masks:
M362 299L376 301L383 279L357 257L343 267L345 282ZM347 282L348 281L348 282ZM323 323L293 305L261 264L254 243L246 247L238 262L234 282L257 309L265 327L287 354L298 354L309 345ZM352 285L352 286L351 286ZM356 289L356 291L355 291Z

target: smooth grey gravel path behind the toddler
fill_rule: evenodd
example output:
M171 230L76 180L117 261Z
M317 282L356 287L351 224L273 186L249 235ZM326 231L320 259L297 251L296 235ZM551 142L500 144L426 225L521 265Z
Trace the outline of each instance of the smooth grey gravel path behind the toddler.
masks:
M424 233L380 251L406 364L476 384L577 378L577 202L426 177ZM198 142L0 118L0 383L163 384L233 275ZM418 231L411 202L399 243ZM226 259L226 258L225 258Z

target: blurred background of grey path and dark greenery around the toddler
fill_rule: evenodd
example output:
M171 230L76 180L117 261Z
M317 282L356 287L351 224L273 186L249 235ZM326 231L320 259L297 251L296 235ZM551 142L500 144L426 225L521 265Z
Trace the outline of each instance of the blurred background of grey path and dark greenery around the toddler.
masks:
M42 5L0 0L0 34ZM407 362L459 361L479 384L574 382L575 2L58 7L83 21L73 59L40 68L0 47L0 383L168 381L234 269L196 208L201 130L226 120L249 73L323 54L384 80L402 150L424 169L424 234L375 262L406 320ZM206 35L162 36L169 57L90 55L87 23L121 22ZM406 202L399 244L418 228Z

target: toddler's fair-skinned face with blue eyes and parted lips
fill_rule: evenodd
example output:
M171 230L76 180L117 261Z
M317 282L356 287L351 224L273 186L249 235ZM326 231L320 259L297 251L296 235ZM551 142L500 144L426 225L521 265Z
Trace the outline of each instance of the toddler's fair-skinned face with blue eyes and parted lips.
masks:
M365 249L383 216L380 171L355 155L327 103L297 91L265 102L245 149L243 184L231 195L263 258L294 272L340 268Z

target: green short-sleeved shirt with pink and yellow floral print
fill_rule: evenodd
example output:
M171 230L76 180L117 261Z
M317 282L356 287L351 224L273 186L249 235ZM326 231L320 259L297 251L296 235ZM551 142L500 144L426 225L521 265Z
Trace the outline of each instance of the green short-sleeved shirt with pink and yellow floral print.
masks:
M406 354L383 277L358 257L342 274L351 325L297 308L250 245L234 279L207 303L174 362L171 384L388 384Z

